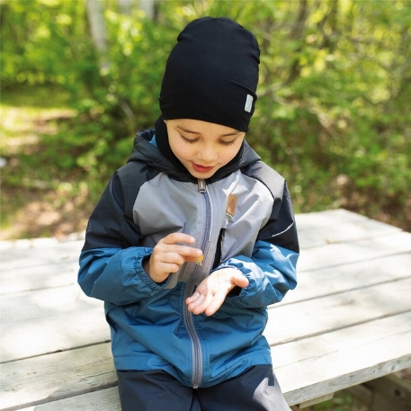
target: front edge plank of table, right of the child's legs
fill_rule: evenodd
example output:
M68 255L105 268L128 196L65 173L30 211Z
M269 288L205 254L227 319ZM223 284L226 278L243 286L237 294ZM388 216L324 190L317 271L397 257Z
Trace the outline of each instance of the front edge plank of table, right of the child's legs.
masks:
M282 389L298 404L409 367L410 344L407 312L274 346L272 355Z

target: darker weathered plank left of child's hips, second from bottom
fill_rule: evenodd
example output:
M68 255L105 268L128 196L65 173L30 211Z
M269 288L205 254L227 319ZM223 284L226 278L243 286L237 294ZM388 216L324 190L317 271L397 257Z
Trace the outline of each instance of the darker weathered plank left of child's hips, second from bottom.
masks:
M7 362L0 367L0 404L10 409L112 387L117 381L109 343Z

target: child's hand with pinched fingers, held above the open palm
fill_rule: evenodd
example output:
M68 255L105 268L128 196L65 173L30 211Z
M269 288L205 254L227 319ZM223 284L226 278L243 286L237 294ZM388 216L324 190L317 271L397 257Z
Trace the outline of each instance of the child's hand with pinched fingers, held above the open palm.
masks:
M165 281L170 273L176 273L186 261L194 261L202 255L199 248L183 246L194 244L195 239L188 234L173 233L162 238L153 249L153 254L143 263L143 268L155 282Z

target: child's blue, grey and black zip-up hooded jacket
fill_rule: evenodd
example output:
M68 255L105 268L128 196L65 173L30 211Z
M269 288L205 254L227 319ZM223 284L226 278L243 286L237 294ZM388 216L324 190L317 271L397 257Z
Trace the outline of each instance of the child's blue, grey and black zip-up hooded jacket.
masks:
M138 133L89 220L78 282L103 299L117 370L163 370L189 387L210 387L271 364L267 306L296 286L297 231L287 185L245 142L236 161L196 180ZM173 232L196 239L201 265L184 263L162 282L142 262ZM216 314L184 300L210 272L235 267L249 281Z

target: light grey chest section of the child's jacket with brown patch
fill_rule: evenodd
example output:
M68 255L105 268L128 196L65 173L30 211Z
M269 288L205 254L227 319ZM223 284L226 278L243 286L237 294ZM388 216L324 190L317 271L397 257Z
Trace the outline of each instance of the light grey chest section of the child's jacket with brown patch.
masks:
M183 264L177 281L187 281L200 270L199 282L210 273L221 228L225 229L221 261L235 255L251 256L255 239L271 215L273 196L263 183L241 172L208 184L199 192L194 183L182 183L158 174L143 184L133 208L133 219L141 230L143 246L156 243L174 232L190 234L204 253L200 267Z

